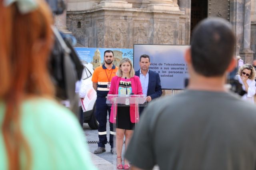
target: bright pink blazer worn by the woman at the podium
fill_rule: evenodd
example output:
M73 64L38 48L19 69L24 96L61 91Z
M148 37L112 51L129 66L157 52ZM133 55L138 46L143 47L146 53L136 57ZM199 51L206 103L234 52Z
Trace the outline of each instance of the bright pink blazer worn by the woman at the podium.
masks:
M131 77L131 85L132 85L132 93L134 93L134 95L143 95L142 93L142 86L140 83L140 77L134 75L134 77ZM121 77L115 76L112 78L111 83L110 83L110 89L108 94L109 95L118 95L118 87L119 87L119 83L120 83ZM114 108L114 106L112 105L111 107L111 112L110 112L110 122L111 123L116 123L115 119L116 115L114 115L113 113L113 109L117 110L117 107ZM139 121L135 120L135 106L130 105L130 118L131 118L131 122L132 123L137 123Z

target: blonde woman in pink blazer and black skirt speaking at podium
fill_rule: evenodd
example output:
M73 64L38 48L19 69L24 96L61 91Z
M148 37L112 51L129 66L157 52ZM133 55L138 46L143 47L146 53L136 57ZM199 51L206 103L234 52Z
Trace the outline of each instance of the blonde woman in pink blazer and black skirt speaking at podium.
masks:
M112 78L109 95L142 95L140 77L135 75L132 61L123 58L120 61L118 72ZM113 109L117 109L116 122L114 121ZM125 148L127 148L133 134L133 127L136 122L135 107L125 105L117 108L111 107L110 122L116 123L116 154L117 169L130 169L128 160L122 165L122 147L125 136Z

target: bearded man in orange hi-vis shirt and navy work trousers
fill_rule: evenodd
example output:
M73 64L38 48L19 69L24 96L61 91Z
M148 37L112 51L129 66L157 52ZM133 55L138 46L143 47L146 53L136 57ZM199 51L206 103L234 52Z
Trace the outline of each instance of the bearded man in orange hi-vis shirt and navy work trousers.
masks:
M93 88L97 91L95 116L99 122L99 143L98 148L94 151L95 154L106 152L105 144L108 141L106 131L107 115L109 116L111 111L110 106L106 104L106 96L108 95L111 79L118 71L118 67L113 64L113 51L107 50L104 52L104 61L105 63L102 66L97 67L92 75ZM109 144L111 146L110 152L112 154L114 154L113 135L113 124L110 123Z

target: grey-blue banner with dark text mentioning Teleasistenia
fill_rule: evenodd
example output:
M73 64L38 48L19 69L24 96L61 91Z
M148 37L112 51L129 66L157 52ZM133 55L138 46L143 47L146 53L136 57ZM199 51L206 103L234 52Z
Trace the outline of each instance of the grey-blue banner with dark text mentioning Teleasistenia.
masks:
M149 69L159 73L162 89L185 89L188 78L184 60L189 45L145 45L134 44L134 69L140 69L140 56L150 56Z

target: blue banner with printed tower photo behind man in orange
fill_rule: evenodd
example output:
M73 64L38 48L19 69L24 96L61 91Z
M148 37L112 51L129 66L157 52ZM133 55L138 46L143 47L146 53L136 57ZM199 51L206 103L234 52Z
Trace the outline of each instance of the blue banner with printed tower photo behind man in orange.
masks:
M133 61L133 49L132 48L85 48L75 47L78 57L82 61L92 63L93 68L102 65L104 63L104 51L110 49L114 52L114 65L118 66L122 58L129 58Z

